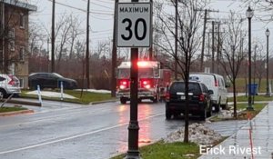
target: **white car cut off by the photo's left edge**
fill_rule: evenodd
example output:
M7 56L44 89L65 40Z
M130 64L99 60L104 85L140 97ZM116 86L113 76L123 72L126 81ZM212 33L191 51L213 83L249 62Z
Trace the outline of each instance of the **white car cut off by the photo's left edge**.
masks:
M15 75L0 74L0 98L7 98L21 93L20 81Z

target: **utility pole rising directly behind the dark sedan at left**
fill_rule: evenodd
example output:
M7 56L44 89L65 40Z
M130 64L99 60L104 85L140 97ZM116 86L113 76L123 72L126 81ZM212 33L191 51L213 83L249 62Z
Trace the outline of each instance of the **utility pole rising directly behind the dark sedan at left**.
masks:
M51 73L55 72L55 0L52 1Z

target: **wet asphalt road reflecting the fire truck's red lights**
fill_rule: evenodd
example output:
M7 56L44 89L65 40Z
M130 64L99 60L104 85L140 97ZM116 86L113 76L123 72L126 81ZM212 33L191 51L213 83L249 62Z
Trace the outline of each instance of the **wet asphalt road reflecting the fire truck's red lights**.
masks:
M44 102L29 108L35 114L0 117L1 159L106 159L127 150L129 104ZM183 119L165 120L164 112L163 103L138 104L139 146L184 126ZM230 135L242 124L207 125Z

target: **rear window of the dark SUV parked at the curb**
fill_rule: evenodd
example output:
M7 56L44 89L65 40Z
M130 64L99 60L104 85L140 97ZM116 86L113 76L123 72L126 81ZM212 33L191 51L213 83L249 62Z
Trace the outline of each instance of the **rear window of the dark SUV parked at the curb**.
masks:
M170 93L177 94L177 92L185 93L185 83L184 82L177 82L171 85ZM200 87L197 83L188 83L188 92L193 94L199 94Z

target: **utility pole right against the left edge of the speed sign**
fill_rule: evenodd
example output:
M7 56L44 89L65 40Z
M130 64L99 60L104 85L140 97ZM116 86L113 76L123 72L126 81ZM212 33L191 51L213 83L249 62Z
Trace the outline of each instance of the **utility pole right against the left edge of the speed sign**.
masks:
M111 76L111 96L116 96L116 3L118 0L115 0L114 8L114 26L113 26L113 43L112 43L112 76Z

